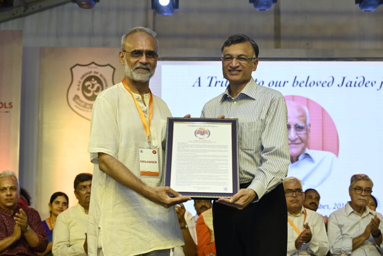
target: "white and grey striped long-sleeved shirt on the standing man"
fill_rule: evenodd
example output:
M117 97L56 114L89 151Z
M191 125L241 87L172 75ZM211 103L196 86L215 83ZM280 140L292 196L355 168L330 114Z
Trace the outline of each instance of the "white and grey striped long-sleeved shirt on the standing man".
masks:
M208 101L201 117L238 118L239 183L257 194L257 202L287 175L290 163L287 108L282 94L260 86L251 78L232 98L229 87Z

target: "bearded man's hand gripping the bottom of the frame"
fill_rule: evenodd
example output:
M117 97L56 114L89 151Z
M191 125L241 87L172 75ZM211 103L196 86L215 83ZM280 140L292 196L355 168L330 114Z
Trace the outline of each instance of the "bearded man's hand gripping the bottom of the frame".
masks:
M162 205L165 208L192 200L190 197L184 197L170 187L147 187L147 193L143 195L150 201Z

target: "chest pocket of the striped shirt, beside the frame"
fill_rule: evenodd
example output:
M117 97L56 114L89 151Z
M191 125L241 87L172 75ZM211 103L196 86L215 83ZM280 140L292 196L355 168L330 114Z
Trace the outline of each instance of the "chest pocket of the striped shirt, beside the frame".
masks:
M239 148L242 150L260 149L262 134L261 121L248 121L239 124Z

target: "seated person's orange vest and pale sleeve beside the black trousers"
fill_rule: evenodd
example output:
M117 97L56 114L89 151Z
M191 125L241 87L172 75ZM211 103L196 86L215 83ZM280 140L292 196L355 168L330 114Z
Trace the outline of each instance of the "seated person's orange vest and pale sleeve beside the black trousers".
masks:
M213 212L209 210L201 213L197 220L197 256L216 255L213 230Z

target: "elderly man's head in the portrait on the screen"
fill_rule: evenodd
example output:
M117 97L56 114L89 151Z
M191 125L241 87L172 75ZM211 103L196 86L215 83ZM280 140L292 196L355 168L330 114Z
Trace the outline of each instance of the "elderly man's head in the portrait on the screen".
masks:
M310 115L308 109L295 101L286 101L289 151L292 163L298 161L308 147L310 138Z

